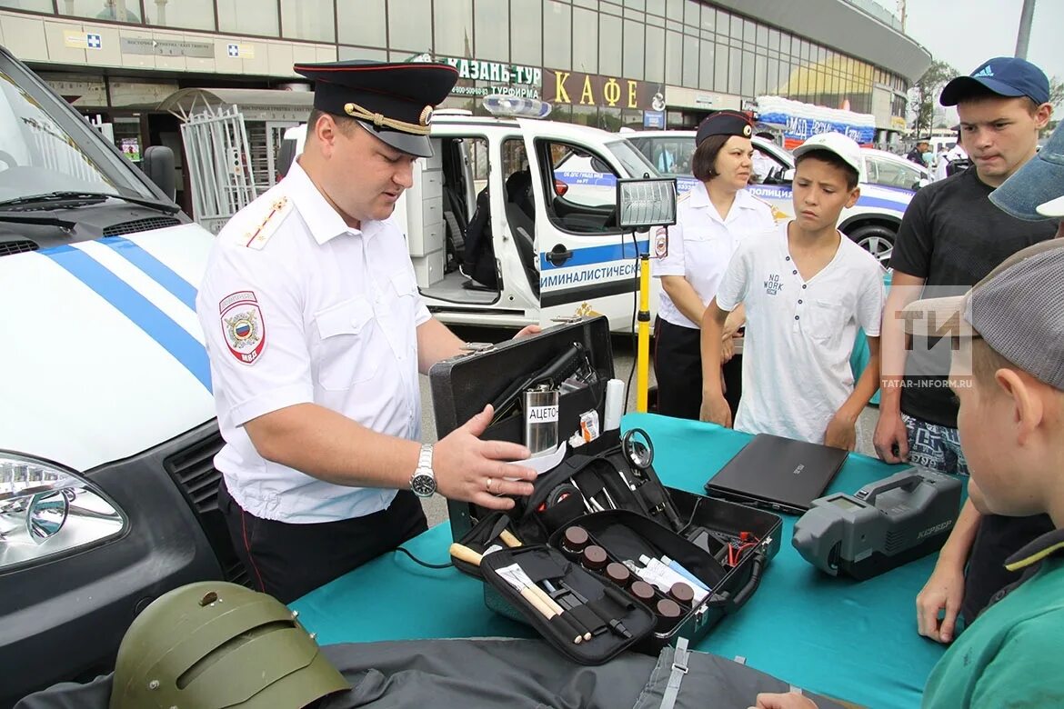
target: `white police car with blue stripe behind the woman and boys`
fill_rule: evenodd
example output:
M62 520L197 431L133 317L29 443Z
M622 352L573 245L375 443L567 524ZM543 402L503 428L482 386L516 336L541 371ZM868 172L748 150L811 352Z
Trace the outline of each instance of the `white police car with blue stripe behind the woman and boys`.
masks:
M695 131L631 131L622 134L646 155L659 172L677 178L680 192L691 189L696 180L691 174L691 158L695 152ZM754 173L760 181L750 192L772 206L777 221L794 216L791 179L794 156L770 140L754 136ZM863 149L864 169L861 171L861 198L843 210L839 230L876 256L883 266L891 259L894 238L901 217L919 187L928 184L927 170L902 165L880 150Z

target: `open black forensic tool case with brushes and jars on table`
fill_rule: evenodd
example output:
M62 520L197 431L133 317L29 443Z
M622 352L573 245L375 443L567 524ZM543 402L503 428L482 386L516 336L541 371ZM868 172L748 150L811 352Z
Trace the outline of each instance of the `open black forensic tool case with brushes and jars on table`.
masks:
M604 318L482 349L429 373L437 436L493 402L482 438L529 445L531 436L541 449L532 460L551 453L560 460L536 467L534 492L506 512L450 501L451 556L485 581L489 608L531 624L584 664L701 638L750 598L780 545L778 516L662 484L650 436L621 435L613 374Z

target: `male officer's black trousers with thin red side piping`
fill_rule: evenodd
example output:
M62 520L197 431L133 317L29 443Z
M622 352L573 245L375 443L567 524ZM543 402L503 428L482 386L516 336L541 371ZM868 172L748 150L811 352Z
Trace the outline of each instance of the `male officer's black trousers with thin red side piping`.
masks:
M281 603L292 603L429 528L421 503L409 490L400 490L380 512L336 522L289 524L246 512L222 483L218 509L226 516L229 536L251 576L251 586Z

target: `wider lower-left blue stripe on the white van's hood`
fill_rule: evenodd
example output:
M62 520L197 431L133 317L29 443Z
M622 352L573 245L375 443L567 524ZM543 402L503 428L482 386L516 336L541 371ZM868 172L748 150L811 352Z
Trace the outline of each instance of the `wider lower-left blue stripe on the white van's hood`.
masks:
M211 364L207 361L206 350L147 298L80 249L63 246L43 249L37 253L51 258L70 275L99 293L211 391Z

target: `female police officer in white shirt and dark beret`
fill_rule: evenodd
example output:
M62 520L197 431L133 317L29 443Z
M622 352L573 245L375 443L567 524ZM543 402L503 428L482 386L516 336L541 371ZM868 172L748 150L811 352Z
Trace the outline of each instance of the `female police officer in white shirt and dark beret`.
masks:
M734 111L709 116L695 135L692 172L699 180L677 205L677 224L654 238L654 276L662 296L654 323L658 411L698 420L702 394L699 323L717 292L728 261L748 234L772 229L771 207L746 190L753 171L750 120ZM732 406L738 406L741 357L732 357L732 337L742 309L724 333L724 375Z

